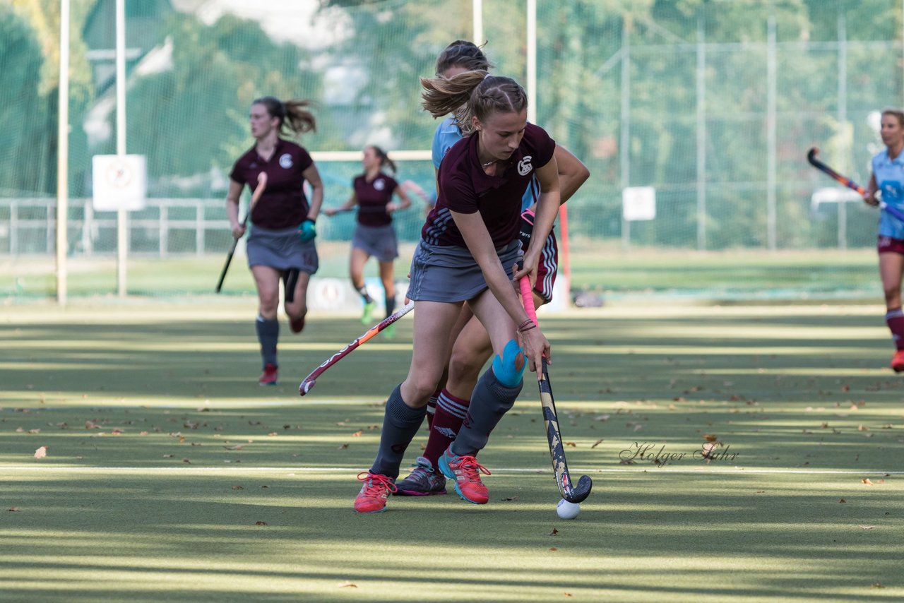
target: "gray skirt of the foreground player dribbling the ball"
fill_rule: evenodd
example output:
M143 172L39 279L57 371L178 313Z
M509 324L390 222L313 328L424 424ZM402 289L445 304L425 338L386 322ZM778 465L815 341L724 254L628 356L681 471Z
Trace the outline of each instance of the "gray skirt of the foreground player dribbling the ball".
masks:
M496 249L505 274L522 256L521 241ZM411 259L408 297L415 301L459 302L473 299L487 287L484 273L466 247L440 247L420 241Z

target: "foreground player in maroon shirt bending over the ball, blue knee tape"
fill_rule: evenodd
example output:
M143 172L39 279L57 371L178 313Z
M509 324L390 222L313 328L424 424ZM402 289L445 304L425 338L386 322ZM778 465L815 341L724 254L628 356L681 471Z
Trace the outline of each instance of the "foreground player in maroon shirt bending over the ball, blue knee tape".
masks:
M466 102L475 134L449 149L439 168L438 200L421 230L411 260L408 297L415 316L408 377L386 402L380 448L355 499L359 513L377 513L396 490L399 466L442 378L448 342L465 302L485 326L495 359L477 382L457 438L439 458L443 474L469 503L485 504L476 455L496 423L512 408L525 366L536 370L550 343L524 311L513 279L536 279L541 247L559 210L555 142L527 123L527 95L517 82L486 71L448 80L421 80L424 108L447 115ZM532 176L540 184L534 236L522 255L521 199ZM518 268L519 259L523 267ZM520 339L521 345L515 339Z

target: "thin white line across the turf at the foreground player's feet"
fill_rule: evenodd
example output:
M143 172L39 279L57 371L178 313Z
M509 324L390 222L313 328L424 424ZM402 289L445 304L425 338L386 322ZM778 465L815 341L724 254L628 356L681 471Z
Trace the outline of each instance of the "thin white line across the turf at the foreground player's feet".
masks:
M34 465L0 465L0 471L97 471L108 473L132 473L132 472L151 472L151 473L178 473L180 471L192 472L294 472L294 473L325 473L325 472L361 472L367 471L366 467L324 467L324 466L298 466L298 467L278 467L278 466L34 466ZM551 473L551 469L530 469L505 467L495 468L493 473ZM700 474L725 474L725 473L756 473L756 474L805 474L812 476L835 475L835 476L901 476L904 471L891 471L881 469L756 469L745 467L732 467L725 469L661 469L652 467L647 469L582 469L580 467L569 467L569 473L572 476L580 476L583 474L601 474L601 473L700 473Z

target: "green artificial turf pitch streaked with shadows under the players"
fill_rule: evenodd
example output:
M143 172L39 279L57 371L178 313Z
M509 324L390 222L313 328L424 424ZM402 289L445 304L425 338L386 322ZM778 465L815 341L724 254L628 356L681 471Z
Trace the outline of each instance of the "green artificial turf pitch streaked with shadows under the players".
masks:
M300 398L363 325L283 321L265 389L254 305L3 307L0 599L904 598L904 377L879 306L541 315L571 473L594 479L563 521L531 378L481 454L489 504L353 513L412 316Z

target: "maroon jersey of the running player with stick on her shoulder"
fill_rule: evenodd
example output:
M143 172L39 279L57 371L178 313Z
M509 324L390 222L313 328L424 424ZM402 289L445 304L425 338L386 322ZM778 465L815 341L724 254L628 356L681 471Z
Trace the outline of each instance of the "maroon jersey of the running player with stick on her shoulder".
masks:
M251 210L251 223L278 230L305 221L308 204L302 173L311 165L314 160L303 147L282 138L278 139L269 161L258 155L254 146L241 155L229 174L235 182L248 184L253 192L258 185L258 174L267 172L267 188Z

